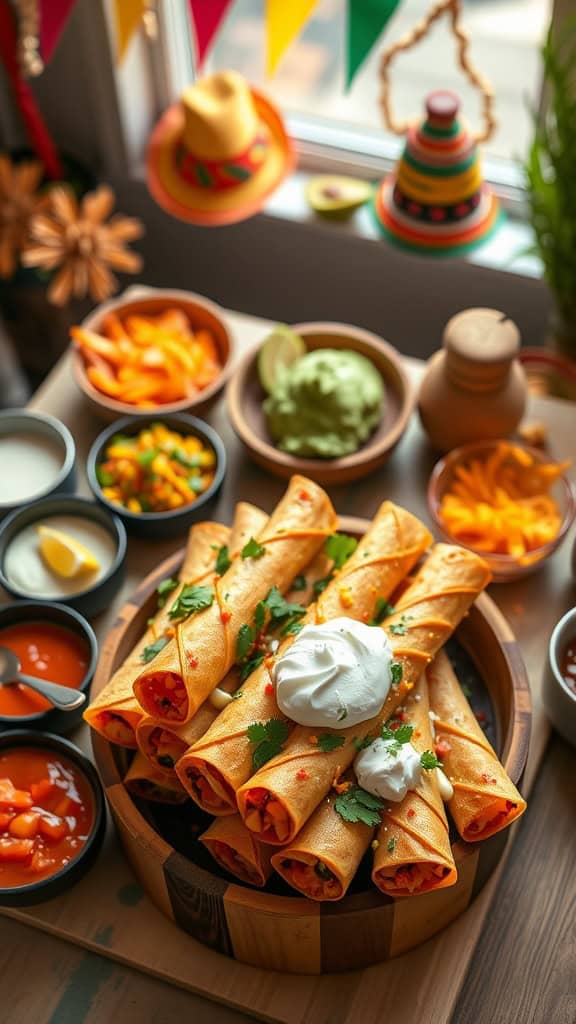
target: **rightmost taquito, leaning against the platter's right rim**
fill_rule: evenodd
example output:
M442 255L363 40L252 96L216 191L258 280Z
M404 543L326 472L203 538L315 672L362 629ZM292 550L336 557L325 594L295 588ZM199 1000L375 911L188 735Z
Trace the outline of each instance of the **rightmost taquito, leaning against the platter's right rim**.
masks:
M442 744L444 771L454 790L450 814L462 839L477 843L516 821L526 801L484 735L444 651L426 676L436 742Z

